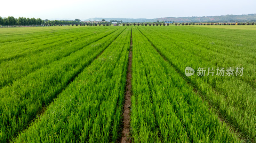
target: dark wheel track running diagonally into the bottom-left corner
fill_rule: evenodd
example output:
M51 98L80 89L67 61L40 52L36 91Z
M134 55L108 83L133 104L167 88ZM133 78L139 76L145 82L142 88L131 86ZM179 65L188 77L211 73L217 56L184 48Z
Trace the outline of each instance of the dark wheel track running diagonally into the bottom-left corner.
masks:
M126 28L125 28L125 29L126 29ZM124 29L124 30L125 30L125 29ZM123 30L123 31L124 31L124 30ZM116 30L115 30L115 31L116 31ZM115 32L115 31L114 31L114 32ZM123 31L122 31L122 32L123 32ZM116 36L116 38L117 38L122 32L120 32L120 33ZM112 33L113 33L113 32L111 32L111 34L112 34ZM110 34L108 34L108 35L110 35ZM106 36L108 36L108 35L106 35ZM106 37L106 36L104 36L104 37ZM104 38L104 37L102 37L102 38ZM102 38L101 38L101 39L102 39ZM47 103L48 106L49 106L50 104L52 104L52 103L54 102L54 99L57 98L58 95L60 95L60 94L62 93L62 91L64 91L64 90L69 86L69 84L70 84L71 82L73 82L73 81L76 79L76 77L84 70L84 68L86 68L87 66L89 66L94 60L98 59L98 57L105 51L106 48L108 48L109 45L111 45L111 44L116 40L116 38L115 38L111 43L109 43L109 44L100 52L100 54L98 54L98 55L96 55L95 57L93 57L92 60L90 60L87 64L85 64L83 67L81 67L81 69L78 70L78 72L77 72L73 77L71 77L71 78L67 81L67 83L65 84L65 86L63 86L61 89L57 90L57 91L54 93L53 98L50 99L49 102ZM98 40L97 40L97 41L98 41ZM95 42L96 42L96 41L95 41ZM36 122L36 118L40 118L40 116L44 114L44 111L45 111L45 110L47 110L47 106L45 105L45 103L43 103L43 104L42 104L42 108L36 112L36 116L35 116L35 117L32 117L32 119L31 119L30 121L28 121L27 127L23 128L22 131L16 132L12 137L8 138L7 141L6 141L6 143L12 142L12 139L15 139L15 138L19 135L20 132L23 132L23 131L25 131L26 129L28 129L28 128L30 127L30 125L33 124L33 121Z

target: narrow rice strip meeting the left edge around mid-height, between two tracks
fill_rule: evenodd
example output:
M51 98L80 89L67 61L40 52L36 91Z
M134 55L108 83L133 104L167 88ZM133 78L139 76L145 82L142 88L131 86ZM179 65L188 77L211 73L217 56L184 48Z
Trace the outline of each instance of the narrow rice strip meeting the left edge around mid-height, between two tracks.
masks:
M36 53L27 52L24 57L1 62L0 89L44 65L60 60L62 57L66 57L84 46L109 35L114 32L115 29L101 29L101 31L102 32L90 32L81 35L77 35L77 33L63 35L63 37L68 38L68 40L63 40L63 42L54 43L52 45L42 45L40 48L44 50L40 50ZM61 39L63 39L63 37ZM84 44L81 44L82 42Z

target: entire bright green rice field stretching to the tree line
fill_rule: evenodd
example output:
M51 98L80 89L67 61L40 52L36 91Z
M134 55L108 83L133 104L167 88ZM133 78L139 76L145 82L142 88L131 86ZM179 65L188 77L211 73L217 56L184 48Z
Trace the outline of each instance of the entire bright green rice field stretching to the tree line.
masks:
M1 28L0 142L255 143L255 32L255 25ZM186 67L195 74L186 76ZM243 75L216 75L220 67Z

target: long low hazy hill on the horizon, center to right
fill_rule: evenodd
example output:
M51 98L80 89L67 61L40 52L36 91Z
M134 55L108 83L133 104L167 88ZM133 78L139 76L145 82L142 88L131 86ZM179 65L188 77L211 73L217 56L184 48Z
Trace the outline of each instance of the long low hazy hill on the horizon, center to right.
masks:
M119 20L123 22L155 22L159 21L175 21L175 22L249 22L256 21L256 14L244 14L244 15L222 15L222 16L203 16L203 17L166 17L166 18L89 18L84 21L93 20Z

